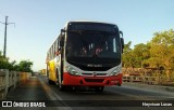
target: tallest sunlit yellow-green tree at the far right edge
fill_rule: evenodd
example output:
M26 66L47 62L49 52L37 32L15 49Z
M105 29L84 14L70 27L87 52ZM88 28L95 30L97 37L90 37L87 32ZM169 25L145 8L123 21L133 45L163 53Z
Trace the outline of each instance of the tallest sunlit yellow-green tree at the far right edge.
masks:
M159 68L162 66L165 69L173 68L174 31L172 29L169 31L156 32L150 42L150 46L151 57L149 58L149 63L151 67Z

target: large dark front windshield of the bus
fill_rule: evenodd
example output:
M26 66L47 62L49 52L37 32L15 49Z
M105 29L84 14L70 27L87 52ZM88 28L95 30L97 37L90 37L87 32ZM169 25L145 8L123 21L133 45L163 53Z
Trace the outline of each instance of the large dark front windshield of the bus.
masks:
M121 63L119 33L105 31L69 31L66 59L74 65L109 66Z

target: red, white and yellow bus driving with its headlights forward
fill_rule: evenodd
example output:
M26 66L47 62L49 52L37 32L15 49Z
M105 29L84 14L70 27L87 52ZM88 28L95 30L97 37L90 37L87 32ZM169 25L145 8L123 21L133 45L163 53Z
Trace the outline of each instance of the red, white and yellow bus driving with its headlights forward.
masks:
M48 82L65 87L122 85L123 32L114 24L69 22L47 53Z

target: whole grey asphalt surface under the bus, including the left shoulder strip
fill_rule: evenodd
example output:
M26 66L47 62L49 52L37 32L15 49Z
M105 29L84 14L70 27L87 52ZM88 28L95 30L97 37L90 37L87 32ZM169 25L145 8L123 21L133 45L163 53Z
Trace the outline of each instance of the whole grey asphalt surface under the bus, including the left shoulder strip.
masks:
M174 94L138 86L109 86L102 93L94 90L65 90L49 85L46 77L38 75L10 92L5 100L44 101L46 108L0 108L0 110L174 110ZM152 105L148 107L148 105ZM154 104L160 104L154 107ZM169 107L162 104L169 104ZM170 106L172 105L172 107Z

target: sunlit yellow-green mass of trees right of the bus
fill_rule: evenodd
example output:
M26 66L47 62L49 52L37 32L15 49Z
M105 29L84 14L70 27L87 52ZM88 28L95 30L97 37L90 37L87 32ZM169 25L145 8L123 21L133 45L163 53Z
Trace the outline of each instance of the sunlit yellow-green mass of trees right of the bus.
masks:
M154 32L151 41L139 43L130 49L132 41L125 44L124 68L150 68L162 70L166 80L174 81L174 30Z

